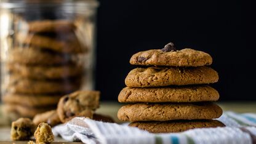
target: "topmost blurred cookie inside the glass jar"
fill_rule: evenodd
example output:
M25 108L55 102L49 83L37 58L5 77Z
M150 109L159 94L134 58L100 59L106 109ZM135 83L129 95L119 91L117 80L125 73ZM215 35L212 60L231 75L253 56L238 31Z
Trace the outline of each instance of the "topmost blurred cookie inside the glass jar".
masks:
M76 26L70 20L36 20L28 23L28 31L34 33L41 32L70 32Z

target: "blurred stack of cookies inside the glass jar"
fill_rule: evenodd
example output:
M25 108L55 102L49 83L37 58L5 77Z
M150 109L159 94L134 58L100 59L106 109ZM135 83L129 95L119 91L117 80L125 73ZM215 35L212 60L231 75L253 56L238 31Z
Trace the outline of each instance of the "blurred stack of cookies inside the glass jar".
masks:
M75 31L69 20L28 22L15 31L4 63L2 101L8 114L32 118L81 87L84 63L78 58L87 48Z

